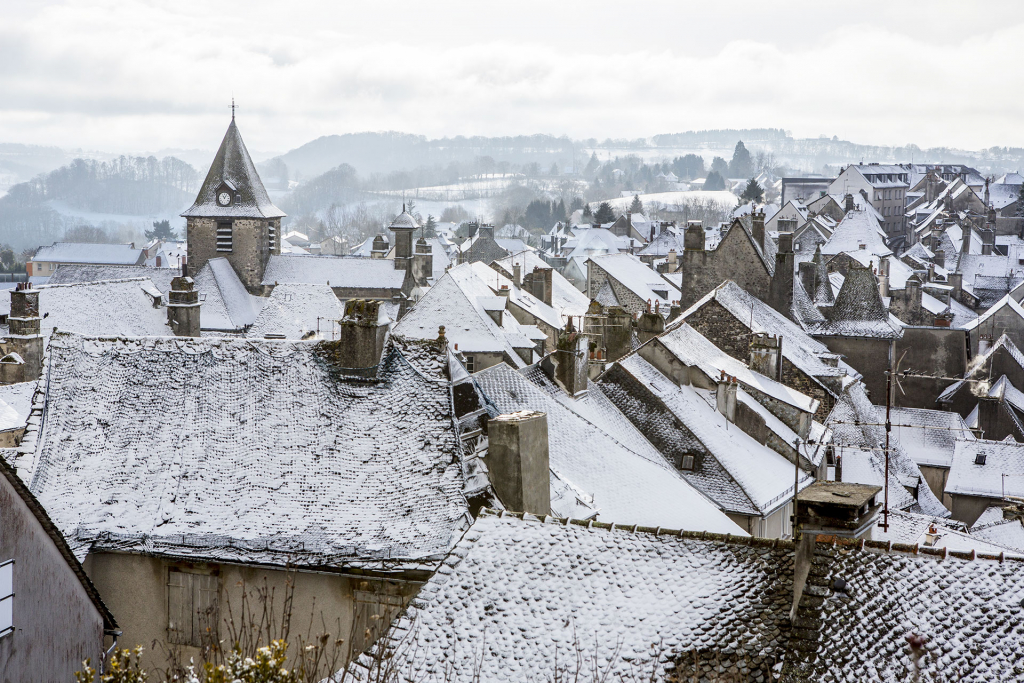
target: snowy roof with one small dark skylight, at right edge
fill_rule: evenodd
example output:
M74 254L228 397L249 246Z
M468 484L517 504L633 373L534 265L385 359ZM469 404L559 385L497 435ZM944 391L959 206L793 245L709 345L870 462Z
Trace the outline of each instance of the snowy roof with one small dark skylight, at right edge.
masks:
M985 464L978 465L980 454ZM1000 499L1024 497L1024 443L975 439L956 441L946 493Z

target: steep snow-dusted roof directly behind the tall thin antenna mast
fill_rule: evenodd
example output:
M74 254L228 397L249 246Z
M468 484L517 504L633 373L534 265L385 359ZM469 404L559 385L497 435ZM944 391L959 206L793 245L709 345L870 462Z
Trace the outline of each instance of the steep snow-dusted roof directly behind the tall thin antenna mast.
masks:
M881 422L884 423L884 420ZM854 382L847 386L825 421L825 426L833 430L836 454L843 459L843 481L885 485L886 433L885 427L880 424L876 407L868 399L863 383ZM903 487L904 483L918 486L916 501ZM949 511L925 483L921 469L897 437L890 439L889 507L938 517L949 516Z

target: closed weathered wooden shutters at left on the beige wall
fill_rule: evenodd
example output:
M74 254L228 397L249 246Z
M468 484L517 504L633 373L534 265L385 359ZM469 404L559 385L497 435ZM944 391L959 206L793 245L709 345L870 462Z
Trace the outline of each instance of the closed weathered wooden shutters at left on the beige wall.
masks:
M168 639L200 647L216 640L217 577L171 569L167 577Z

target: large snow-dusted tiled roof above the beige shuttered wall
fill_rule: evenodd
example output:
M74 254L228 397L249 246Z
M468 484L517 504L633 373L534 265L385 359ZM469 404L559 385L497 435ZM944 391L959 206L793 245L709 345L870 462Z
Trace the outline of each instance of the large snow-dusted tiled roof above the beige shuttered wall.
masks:
M432 566L467 520L443 355L395 341L370 380L323 355L55 335L19 474L70 541L97 550Z

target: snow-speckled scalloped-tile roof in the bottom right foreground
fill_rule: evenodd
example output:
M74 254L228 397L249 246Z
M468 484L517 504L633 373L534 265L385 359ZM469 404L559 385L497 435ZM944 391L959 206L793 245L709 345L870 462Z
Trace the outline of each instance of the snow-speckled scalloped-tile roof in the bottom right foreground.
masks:
M720 666L736 672L720 680L896 683L918 633L929 680L1024 675L1020 561L818 543L793 628L793 557L783 541L484 512L395 621L385 660L424 683L716 680ZM349 671L376 680L371 664Z

